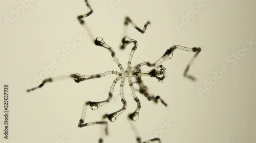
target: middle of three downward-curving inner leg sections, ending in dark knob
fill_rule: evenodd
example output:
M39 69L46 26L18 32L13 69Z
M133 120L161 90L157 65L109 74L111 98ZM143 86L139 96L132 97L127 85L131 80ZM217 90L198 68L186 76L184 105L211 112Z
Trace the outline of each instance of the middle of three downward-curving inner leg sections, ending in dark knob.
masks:
M125 78L122 78L121 80L121 84L120 84L120 95L121 95L121 102L123 103L123 107L121 109L119 109L118 111L115 111L111 114L108 115L108 119L111 121L111 122L114 122L116 121L117 117L126 109L127 107L127 104L126 104L126 100L124 99L124 96L123 96L123 85L124 85L124 80Z

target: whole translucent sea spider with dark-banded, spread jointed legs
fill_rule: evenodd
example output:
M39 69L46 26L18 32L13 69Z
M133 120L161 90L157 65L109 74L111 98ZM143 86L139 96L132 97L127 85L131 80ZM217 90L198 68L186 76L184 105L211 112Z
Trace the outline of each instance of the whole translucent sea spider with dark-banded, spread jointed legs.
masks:
M83 20L83 18L88 17L89 15L91 15L93 13L93 10L92 10L91 6L89 5L88 1L85 0L85 2L86 2L87 7L89 8L89 12L84 14L84 15L79 15L77 18L78 18L79 22L89 32L89 35L91 36L91 38L94 39L93 36L92 36L92 33L89 31L89 28L86 26L86 24L85 24L85 22ZM147 26L150 25L150 22L147 21L144 24L143 29L141 29L131 20L131 18L125 17L124 25L126 26L129 23L131 23L136 28L136 30L139 31L142 34L145 32ZM187 72L189 70L190 65L194 62L195 58L197 57L197 55L201 51L200 47L188 48L188 47L184 47L184 46L180 46L180 45L174 45L174 46L170 47L169 49L167 49L165 51L165 53L161 56L161 58L159 60L157 60L155 63L143 62L143 63L140 63L140 64L132 67L133 54L134 54L135 50L138 47L138 43L137 43L136 40L131 39L131 38L125 36L122 39L122 45L120 46L120 48L124 49L129 44L133 44L133 47L132 47L132 50L131 50L131 53L130 53L129 60L127 62L127 68L126 68L126 70L124 70L123 66L119 63L118 59L116 58L116 54L115 54L113 48L111 46L109 46L108 44L106 44L104 42L103 38L97 37L94 40L94 43L95 43L95 45L100 46L100 47L104 47L104 48L108 49L111 52L111 56L114 59L114 61L116 62L116 64L118 65L118 67L120 69L120 72L113 70L113 71L107 71L107 72L104 72L104 73L99 73L99 74L94 74L94 75L81 75L81 74L76 73L76 74L71 74L70 76L68 76L68 77L72 77L74 79L74 81L78 83L78 82L81 82L81 81L84 81L84 80L88 80L88 79L100 78L100 77L108 75L108 74L116 74L117 75L116 79L113 81L112 86L110 88L109 97L106 100L99 101L99 102L87 101L86 103L84 103L84 107L83 107L83 111L82 111L82 116L81 116L81 119L78 122L78 127L80 127L80 128L81 127L86 127L86 126L91 126L91 125L99 124L99 125L102 125L102 127L104 127L103 128L104 134L108 134L108 128L107 128L107 124L108 123L106 121L84 123L84 118L86 116L87 106L90 106L92 110L96 110L99 107L101 107L102 105L105 105L106 103L109 103L110 100L113 97L113 90L114 90L115 84L119 80L121 80L121 83L120 83L120 96L121 96L121 102L122 102L123 106L122 106L121 109L119 109L119 110L117 110L117 111L115 111L113 113L106 114L106 115L103 116L103 119L108 118L111 122L116 121L118 116L126 109L126 106L127 106L126 105L126 100L125 100L124 94L123 94L123 86L124 86L125 78L127 78L127 80L129 81L129 85L130 85L130 88L131 88L131 91L132 91L133 98L134 98L135 102L137 103L137 108L135 109L135 111L133 113L130 113L130 115L129 115L129 118L132 121L136 121L139 118L139 111L140 111L140 108L141 108L140 100L139 100L139 98L135 94L135 89L134 89L134 86L133 86L134 83L137 83L139 85L139 90L138 91L141 94L143 94L148 101L151 101L153 99L153 101L157 102L159 100L164 106L167 106L167 104L162 100L162 98L160 98L160 96L154 97L154 96L150 96L148 94L147 87L144 85L144 82L143 82L143 80L141 78L142 78L142 76L150 76L150 77L157 78L159 81L162 81L165 78L165 76L166 76L166 72L165 72L166 68L164 68L164 66L161 65L161 64L165 60L173 58L173 52L176 49L182 49L182 50L185 50L185 51L196 52L195 55L193 56L193 58L188 63L188 65L187 65L187 67L185 69L185 72L184 72L184 76L185 77L187 77L187 78L189 78L191 80L195 80L195 78L193 76L191 76L191 75L188 75ZM141 70L142 66L153 67L153 69L150 70L150 71L142 71ZM132 77L134 77L136 80L133 81ZM52 82L54 80L59 80L61 78L62 77L47 78L44 81L42 81L42 83L40 85L38 85L38 87L29 89L29 90L27 90L27 92L30 92L30 91L33 91L35 89L43 87L46 82ZM137 136L137 142L141 142L141 139L138 136L138 134L136 136ZM150 140L147 140L147 141L144 141L144 142L148 143L148 142L154 142L154 141L160 142L160 139L159 138L153 138L153 139L150 139ZM103 142L103 134L101 134L99 142Z

